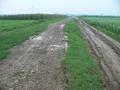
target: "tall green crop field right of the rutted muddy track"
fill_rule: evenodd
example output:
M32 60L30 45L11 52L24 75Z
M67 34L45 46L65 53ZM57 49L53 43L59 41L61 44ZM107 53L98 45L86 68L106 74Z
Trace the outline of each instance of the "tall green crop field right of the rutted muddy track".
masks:
M82 17L82 19L120 42L120 17Z

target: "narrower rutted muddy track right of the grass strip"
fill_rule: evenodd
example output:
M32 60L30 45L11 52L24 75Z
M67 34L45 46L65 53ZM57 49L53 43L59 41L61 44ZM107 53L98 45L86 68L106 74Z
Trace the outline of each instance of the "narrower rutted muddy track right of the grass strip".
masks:
M120 90L120 44L85 22L80 22L80 26L97 57L106 88Z

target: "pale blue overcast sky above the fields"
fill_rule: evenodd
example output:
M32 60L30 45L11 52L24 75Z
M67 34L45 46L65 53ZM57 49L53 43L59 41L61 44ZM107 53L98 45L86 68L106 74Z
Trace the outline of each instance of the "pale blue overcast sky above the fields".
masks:
M0 0L0 14L120 15L120 0Z

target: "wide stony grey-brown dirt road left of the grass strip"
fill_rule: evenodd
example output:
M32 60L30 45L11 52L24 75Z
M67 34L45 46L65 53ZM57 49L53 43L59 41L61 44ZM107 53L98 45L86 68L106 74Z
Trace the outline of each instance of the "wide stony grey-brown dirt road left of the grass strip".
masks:
M0 90L63 90L64 22L11 49L0 62Z

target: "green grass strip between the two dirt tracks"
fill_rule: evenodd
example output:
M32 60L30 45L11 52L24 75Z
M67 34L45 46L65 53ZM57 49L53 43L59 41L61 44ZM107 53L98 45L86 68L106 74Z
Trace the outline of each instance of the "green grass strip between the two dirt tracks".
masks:
M91 58L87 45L75 22L69 22L64 31L69 38L65 66L67 90L102 90L96 63Z

